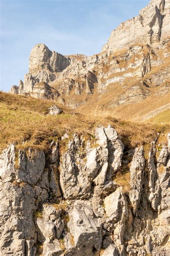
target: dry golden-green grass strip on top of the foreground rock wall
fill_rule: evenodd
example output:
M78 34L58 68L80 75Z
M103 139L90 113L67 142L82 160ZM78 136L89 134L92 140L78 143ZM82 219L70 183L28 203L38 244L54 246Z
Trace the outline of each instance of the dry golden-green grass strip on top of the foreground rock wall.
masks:
M63 109L64 113L58 116L46 115L54 104L49 100L0 92L0 150L14 142L18 148L48 149L49 142L65 132L70 135L76 132L88 139L93 138L96 126L109 124L122 136L124 145L131 148L151 142L158 131L169 130L168 125L132 123L104 113L83 116Z

